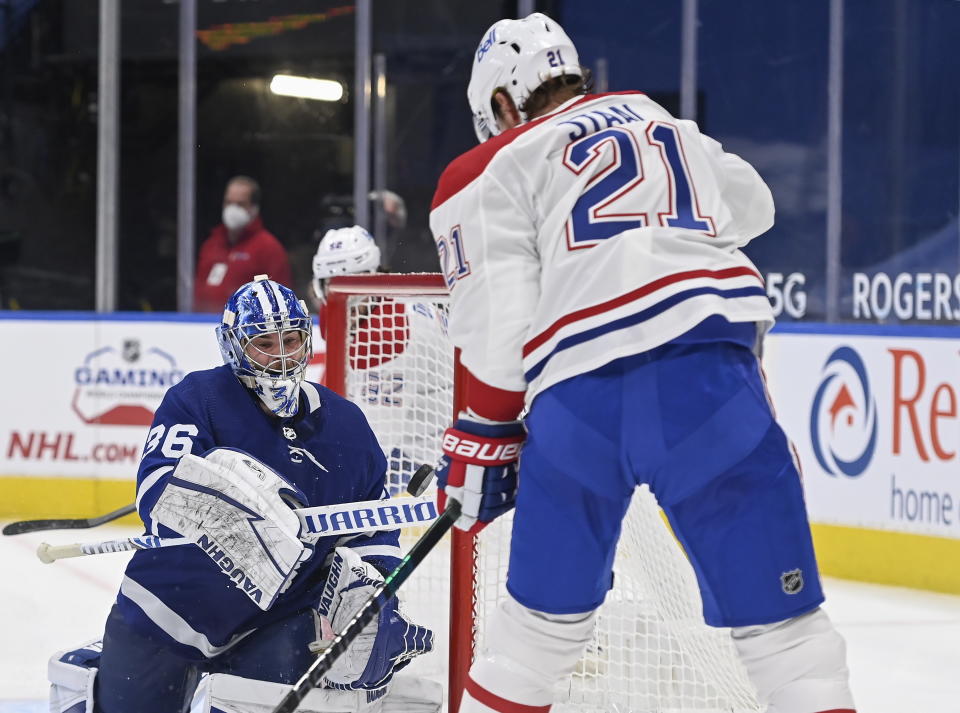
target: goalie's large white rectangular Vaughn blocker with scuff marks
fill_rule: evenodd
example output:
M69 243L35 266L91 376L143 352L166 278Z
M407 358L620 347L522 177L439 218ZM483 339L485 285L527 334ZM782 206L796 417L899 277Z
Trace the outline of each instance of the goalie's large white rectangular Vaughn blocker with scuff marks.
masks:
M195 542L260 609L269 609L313 554L291 509L306 496L242 451L184 455L150 512Z

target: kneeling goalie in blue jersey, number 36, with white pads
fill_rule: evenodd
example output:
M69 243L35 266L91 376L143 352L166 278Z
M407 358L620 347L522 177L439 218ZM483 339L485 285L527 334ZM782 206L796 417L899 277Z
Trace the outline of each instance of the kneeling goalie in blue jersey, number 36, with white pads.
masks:
M363 414L304 380L303 301L260 275L228 300L216 332L224 364L167 391L137 474L147 532L196 546L133 555L102 650L51 661L52 710L90 713L95 699L98 713L178 713L202 674L218 677L205 684L211 695L265 686L269 700L400 561L396 530L305 542L291 510L386 497ZM394 671L431 646L394 599L334 664L320 710L379 710ZM251 710L240 704L195 710Z

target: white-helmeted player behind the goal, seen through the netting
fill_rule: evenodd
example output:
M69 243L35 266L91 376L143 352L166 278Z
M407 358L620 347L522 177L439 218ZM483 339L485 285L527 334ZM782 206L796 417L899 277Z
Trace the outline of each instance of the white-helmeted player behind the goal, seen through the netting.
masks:
M360 226L329 230L313 257L313 290L325 331L327 282L372 274L380 249ZM421 463L433 463L449 423L452 374L437 355L449 343L446 312L423 301L367 298L353 312L347 391L387 456L387 488L404 491ZM415 427L416 426L416 427Z

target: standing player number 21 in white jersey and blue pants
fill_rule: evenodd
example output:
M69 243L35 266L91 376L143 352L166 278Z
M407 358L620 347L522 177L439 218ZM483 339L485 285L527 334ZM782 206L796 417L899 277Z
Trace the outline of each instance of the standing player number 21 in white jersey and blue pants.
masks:
M584 74L550 18L494 24L467 90L481 144L447 167L431 209L469 371L441 484L474 531L516 497L509 596L460 710L549 709L648 484L767 710L849 713L844 643L819 608L800 476L758 366L773 317L740 251L773 225L770 191L693 122L639 92L587 94Z

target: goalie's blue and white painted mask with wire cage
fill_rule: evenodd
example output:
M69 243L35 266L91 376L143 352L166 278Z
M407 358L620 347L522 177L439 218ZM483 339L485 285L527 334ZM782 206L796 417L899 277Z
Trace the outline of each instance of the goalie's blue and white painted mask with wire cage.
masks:
M217 342L223 361L270 413L289 418L312 355L307 305L293 290L257 275L227 300Z

